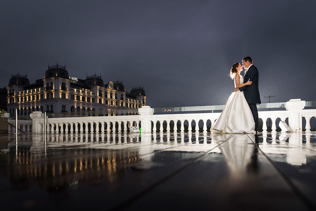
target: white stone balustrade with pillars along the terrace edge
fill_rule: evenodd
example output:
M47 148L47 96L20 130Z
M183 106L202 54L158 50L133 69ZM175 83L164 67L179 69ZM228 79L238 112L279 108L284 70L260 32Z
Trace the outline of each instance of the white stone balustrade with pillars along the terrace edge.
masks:
M289 127L292 132L302 131L302 117L306 119L306 132L310 132L310 119L316 116L316 109L305 109L305 101L300 99L292 99L286 103L284 111L260 111L259 118L263 121L263 133L271 128L271 132L275 133L280 121L288 120ZM126 116L100 116L100 117L69 117L69 118L47 118L46 131L50 133L109 133L116 132L116 123L118 123L118 132L127 132L130 125L141 125L142 133L163 132L163 123L167 123L167 132L184 132L186 131L185 124L188 122L189 132L206 132L208 128L219 117L220 113L185 113L185 114L158 114L154 115L153 109L149 106L143 106L138 110L140 115ZM301 116L300 116L301 115ZM30 114L33 119L33 127L30 122L21 125L24 130L34 133L44 132L44 118L41 117L41 112L33 112ZM207 122L210 120L210 124ZM268 121L267 121L268 120ZM9 120L8 120L9 121ZM14 120L11 120L14 121ZM260 121L260 120L259 120ZM272 124L270 123L272 122ZM173 124L170 124L172 123ZM177 123L180 124L178 129ZM200 123L200 128L198 125ZM157 125L158 124L158 125ZM60 126L59 126L60 125ZM112 125L112 126L111 126ZM153 127L152 127L153 125ZM172 128L173 125L173 128ZM65 127L65 129L64 129ZM59 129L60 128L60 129ZM259 128L261 129L261 128ZM15 130L9 126L9 131Z

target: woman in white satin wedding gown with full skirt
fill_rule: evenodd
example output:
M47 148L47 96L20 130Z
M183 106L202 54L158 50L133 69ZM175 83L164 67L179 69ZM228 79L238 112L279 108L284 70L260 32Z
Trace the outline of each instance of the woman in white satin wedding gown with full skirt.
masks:
M251 85L252 81L244 83L244 78L240 75L242 66L234 63L230 70L230 77L234 79L235 88ZM244 92L233 92L224 106L224 109L212 125L210 131L215 133L256 133L255 122L249 105L244 96Z

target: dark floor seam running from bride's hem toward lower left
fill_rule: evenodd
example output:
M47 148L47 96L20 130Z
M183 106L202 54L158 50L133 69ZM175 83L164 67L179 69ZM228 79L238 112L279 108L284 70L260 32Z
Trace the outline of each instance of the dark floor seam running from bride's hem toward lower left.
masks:
M233 135L235 136L235 135ZM208 150L207 152L203 153L202 155L200 155L199 157L191 160L190 162L188 162L187 164L185 164L184 166L181 166L180 168L178 168L177 170L175 170L174 172L168 174L167 176L165 176L164 178L160 179L159 181L155 182L154 184L150 185L149 187L147 187L146 189L140 191L138 194L132 196L131 198L127 199L125 202L119 204L118 206L116 206L115 208L112 208L110 210L122 210L125 209L127 207L129 207L131 204L133 204L134 202L136 202L137 200L139 200L140 198L142 198L143 196L147 195L149 192L155 190L158 186L160 186L161 184L167 182L169 179L173 178L174 176L176 176L178 173L182 172L184 169L186 169L187 167L191 166L192 164L198 162L199 160L202 159L202 157L204 157L206 154L209 154L213 149L217 148L218 146L222 145L224 142L227 142L230 138L232 138L233 136L230 136L228 139L226 139L225 141L223 141L222 143L216 145L214 148Z

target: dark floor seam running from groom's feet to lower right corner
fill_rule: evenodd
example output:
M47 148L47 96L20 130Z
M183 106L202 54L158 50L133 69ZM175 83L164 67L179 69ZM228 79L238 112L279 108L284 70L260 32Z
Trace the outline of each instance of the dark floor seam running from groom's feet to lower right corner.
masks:
M252 141L252 139L249 136L248 138ZM276 164L259 148L259 146L256 143L254 143L253 141L252 143L255 145L256 148L258 148L258 150L264 155L264 157L275 168L275 170L279 173L281 178L285 180L285 182L289 185L291 190L301 200L301 202L303 202L306 208L308 208L309 210L316 210L316 207L313 205L313 203L305 196L305 194L295 184L293 184L292 180L288 176L286 176L286 174L278 166L276 166Z

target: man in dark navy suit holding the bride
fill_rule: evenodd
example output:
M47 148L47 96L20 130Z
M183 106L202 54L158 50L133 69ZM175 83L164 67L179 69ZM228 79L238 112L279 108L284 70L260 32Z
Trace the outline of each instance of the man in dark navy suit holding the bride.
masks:
M245 98L252 112L253 119L255 120L255 131L258 133L258 110L257 104L261 104L260 94L259 94L259 73L258 69L252 64L252 59L250 57L245 57L242 59L242 66L245 68L244 81L252 81L251 85L246 85L240 88L235 88L235 92L240 90L244 91Z

